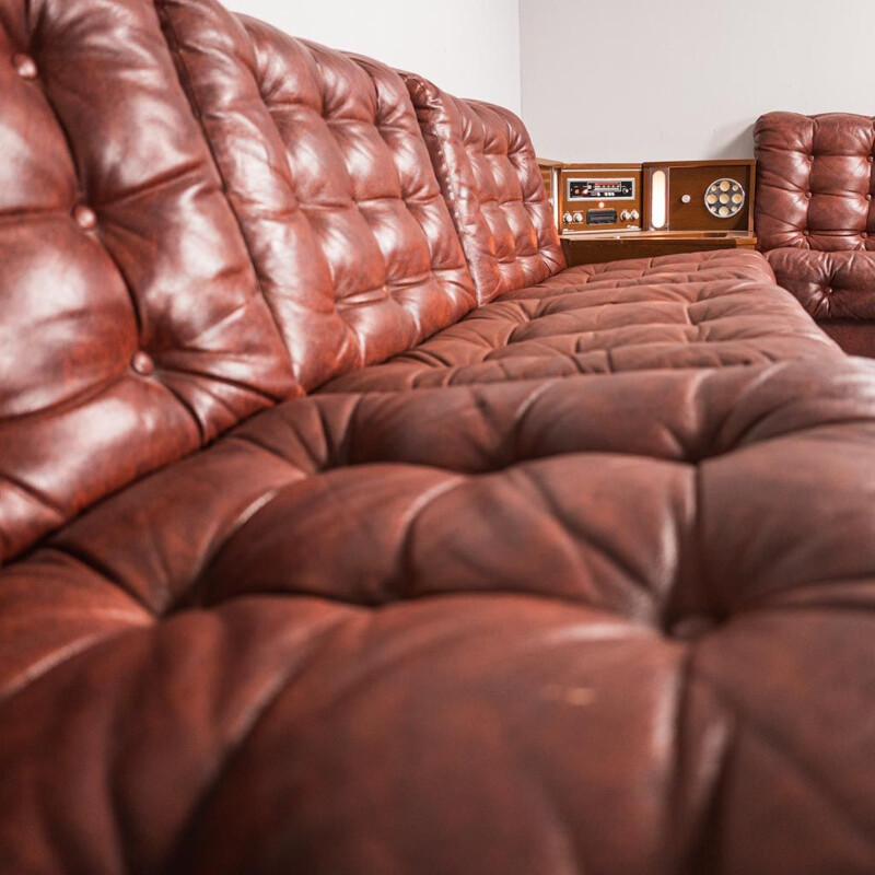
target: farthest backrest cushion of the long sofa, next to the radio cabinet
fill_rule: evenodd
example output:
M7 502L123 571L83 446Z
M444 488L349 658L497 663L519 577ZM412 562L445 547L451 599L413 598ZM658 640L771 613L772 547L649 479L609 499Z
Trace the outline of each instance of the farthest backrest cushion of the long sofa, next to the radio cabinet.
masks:
M522 120L404 73L481 304L565 267Z

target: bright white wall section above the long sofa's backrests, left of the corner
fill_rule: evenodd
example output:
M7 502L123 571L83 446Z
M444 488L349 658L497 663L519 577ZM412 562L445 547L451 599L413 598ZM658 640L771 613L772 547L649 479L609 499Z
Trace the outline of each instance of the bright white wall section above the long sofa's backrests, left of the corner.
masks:
M225 0L293 36L520 112L518 0Z

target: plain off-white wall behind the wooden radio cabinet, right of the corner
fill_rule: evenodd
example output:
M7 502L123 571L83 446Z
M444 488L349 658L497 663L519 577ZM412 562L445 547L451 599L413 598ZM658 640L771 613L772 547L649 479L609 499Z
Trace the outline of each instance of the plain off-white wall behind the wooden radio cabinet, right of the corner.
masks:
M523 117L545 158L749 158L762 113L875 115L875 0L520 5ZM564 75L562 44L580 59Z

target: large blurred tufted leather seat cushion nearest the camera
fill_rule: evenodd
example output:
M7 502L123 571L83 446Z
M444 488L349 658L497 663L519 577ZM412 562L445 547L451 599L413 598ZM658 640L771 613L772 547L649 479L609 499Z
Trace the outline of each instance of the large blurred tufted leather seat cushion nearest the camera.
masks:
M865 872L873 386L317 396L143 479L0 572L2 870Z

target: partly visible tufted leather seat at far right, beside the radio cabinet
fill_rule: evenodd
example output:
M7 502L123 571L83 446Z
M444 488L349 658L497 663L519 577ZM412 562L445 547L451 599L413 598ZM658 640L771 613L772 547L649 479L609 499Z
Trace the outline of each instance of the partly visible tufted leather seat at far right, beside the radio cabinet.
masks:
M875 118L770 113L755 138L757 235L779 284L843 349L875 358Z

